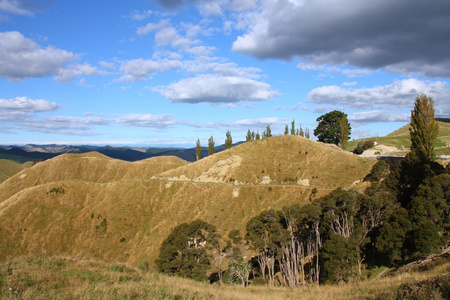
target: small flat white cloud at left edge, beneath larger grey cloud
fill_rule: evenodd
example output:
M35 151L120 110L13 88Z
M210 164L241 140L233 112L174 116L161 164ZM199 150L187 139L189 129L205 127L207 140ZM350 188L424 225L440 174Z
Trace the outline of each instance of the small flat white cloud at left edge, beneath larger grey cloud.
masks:
M44 112L58 109L58 104L43 99L30 99L16 97L13 99L0 99L0 109L22 112Z

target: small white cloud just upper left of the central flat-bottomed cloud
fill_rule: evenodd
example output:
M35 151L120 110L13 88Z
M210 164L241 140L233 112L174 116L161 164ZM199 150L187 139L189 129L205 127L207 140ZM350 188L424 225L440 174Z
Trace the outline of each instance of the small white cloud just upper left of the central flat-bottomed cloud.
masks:
M179 68L182 63L178 60L161 59L133 59L122 63L120 70L125 73L120 80L137 82L145 80L149 75Z

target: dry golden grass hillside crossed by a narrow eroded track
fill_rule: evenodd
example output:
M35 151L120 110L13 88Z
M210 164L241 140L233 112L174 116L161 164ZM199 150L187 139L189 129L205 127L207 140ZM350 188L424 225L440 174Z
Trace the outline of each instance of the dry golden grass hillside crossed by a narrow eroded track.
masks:
M244 143L186 163L62 155L0 184L0 259L67 254L154 267L173 227L201 218L221 233L268 208L355 184L375 159L297 136Z

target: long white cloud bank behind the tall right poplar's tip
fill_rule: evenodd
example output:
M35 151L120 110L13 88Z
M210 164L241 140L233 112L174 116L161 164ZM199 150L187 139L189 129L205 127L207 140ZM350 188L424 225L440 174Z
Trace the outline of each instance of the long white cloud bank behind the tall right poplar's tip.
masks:
M436 114L450 114L448 101L450 90L444 81L421 81L405 79L385 86L372 88L342 88L340 86L322 86L313 89L307 95L306 102L318 105L342 105L354 110L367 109L405 109L414 106L415 98L425 93L435 100Z

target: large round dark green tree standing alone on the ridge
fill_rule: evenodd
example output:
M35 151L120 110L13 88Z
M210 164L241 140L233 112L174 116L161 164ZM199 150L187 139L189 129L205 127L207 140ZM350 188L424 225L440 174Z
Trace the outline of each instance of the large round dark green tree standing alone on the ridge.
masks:
M343 140L348 141L351 134L351 127L350 123L347 121L346 125L348 125L348 130L345 130L344 132L344 134L347 133L347 135L343 136L341 120L344 117L347 119L347 115L338 110L331 111L318 117L316 121L319 122L319 124L316 129L314 129L314 135L323 143L339 145Z

